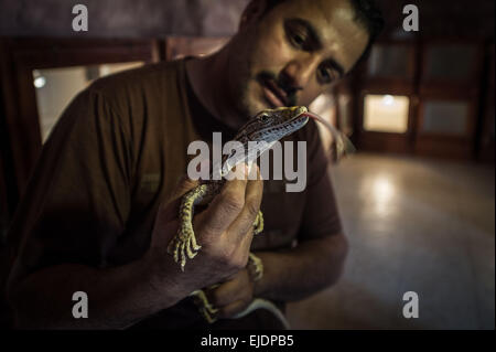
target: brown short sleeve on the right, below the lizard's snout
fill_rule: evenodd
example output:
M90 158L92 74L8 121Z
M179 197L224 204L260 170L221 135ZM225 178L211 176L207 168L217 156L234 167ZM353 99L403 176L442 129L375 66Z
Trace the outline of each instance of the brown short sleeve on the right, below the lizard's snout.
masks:
M309 122L308 141L308 183L305 206L299 239L317 238L342 233L342 224L331 175L319 129Z

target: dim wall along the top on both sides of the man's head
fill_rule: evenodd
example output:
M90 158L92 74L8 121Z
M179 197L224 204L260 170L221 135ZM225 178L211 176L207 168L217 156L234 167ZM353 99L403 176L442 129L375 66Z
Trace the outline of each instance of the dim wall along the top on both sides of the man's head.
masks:
M405 34L402 8L413 3L420 9L422 36L494 38L494 0L376 2L387 20L385 35ZM248 0L0 0L0 34L78 35L71 30L76 3L88 7L87 36L223 36L236 31Z

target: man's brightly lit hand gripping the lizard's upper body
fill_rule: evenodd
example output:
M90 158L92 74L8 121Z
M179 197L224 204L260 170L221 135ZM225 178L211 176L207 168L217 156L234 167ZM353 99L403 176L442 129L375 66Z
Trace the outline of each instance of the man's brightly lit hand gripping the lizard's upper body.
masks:
M245 168L245 164L239 167ZM259 174L259 170L257 169ZM245 174L247 174L245 170ZM197 214L193 228L198 244L198 255L188 260L184 275L177 275L180 266L166 253L169 242L177 232L177 213L181 196L197 185L197 182L183 180L169 204L161 206L152 234L152 244L147 257L157 273L157 285L161 278L172 273L181 296L191 291L225 281L242 270L248 262L254 235L254 222L261 203L263 183L258 180L235 179L227 181L209 206ZM164 289L166 289L164 287Z

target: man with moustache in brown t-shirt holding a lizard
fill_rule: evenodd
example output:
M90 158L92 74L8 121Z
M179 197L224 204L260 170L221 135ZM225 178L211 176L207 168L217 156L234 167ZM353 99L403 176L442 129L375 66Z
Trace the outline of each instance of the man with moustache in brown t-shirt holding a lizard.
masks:
M308 142L304 192L229 181L194 218L202 250L185 273L166 247L177 198L196 184L176 185L188 143L212 131L227 141L265 108L309 105L363 56L376 18L368 1L252 0L218 53L104 78L79 94L10 232L15 326L204 328L187 296L220 284L207 290L218 309L213 328L273 328L260 311L225 319L254 297L282 305L335 282L347 245L313 122L292 136ZM259 209L266 231L254 239ZM259 281L247 267L250 248L263 263ZM76 291L87 294L86 319L73 316Z

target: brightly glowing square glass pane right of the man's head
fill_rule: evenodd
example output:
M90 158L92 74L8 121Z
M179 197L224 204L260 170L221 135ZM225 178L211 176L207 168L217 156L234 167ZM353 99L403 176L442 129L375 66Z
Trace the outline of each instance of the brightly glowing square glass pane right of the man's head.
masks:
M364 129L376 132L405 134L408 130L410 98L401 95L366 95Z

